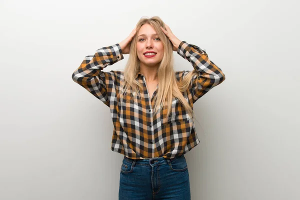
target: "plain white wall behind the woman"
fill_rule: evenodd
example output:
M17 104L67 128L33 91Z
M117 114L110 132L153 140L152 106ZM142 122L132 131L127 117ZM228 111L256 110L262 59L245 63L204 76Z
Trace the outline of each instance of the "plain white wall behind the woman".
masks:
M109 108L71 74L153 15L226 75L194 105L200 144L185 154L192 199L300 199L298 6L1 0L0 199L117 199L123 156L110 150ZM192 69L174 58L176 70Z

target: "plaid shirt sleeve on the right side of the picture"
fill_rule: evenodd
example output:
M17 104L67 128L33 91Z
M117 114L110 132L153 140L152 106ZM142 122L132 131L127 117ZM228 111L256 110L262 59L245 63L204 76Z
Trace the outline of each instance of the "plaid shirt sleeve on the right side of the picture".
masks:
M222 70L209 60L205 49L194 44L181 41L177 53L187 59L198 74L193 76L190 81L190 93L195 102L207 91L225 80ZM189 71L183 71L182 77Z

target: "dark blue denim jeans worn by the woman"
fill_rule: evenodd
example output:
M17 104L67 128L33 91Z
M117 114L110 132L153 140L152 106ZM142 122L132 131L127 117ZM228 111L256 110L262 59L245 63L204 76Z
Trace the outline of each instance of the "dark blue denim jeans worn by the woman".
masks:
M172 159L130 159L120 168L119 200L190 200L189 176L184 155Z

